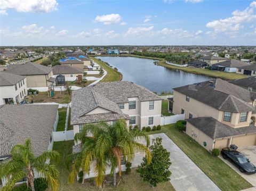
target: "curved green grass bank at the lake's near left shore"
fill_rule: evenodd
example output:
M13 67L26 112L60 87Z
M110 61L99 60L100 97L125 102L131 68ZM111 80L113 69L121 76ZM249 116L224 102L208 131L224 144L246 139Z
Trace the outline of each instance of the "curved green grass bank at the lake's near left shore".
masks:
M95 59L95 57L90 56L90 59L92 59L94 62L97 62L103 69L107 71L107 75L101 80L101 81L120 81L122 80L122 74L120 72L115 71L111 67L109 67L104 62L101 62L98 59Z

